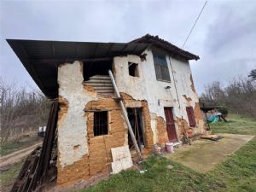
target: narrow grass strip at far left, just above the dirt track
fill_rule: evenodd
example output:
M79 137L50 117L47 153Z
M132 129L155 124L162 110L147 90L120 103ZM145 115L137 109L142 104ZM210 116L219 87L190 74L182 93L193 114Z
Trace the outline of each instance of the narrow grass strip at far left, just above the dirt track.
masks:
M0 155L7 155L7 154L11 154L15 151L18 151L20 149L23 148L28 148L30 146L32 146L35 143L38 143L40 141L39 137L24 137L22 139L20 139L19 142L13 142L13 141L9 141L3 145L0 146Z

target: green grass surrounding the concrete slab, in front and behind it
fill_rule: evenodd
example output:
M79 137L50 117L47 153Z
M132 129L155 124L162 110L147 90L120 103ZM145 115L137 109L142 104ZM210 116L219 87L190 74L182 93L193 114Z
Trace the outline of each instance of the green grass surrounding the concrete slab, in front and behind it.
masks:
M256 121L230 115L228 123L212 124L214 133L256 135ZM172 169L167 166L172 165ZM256 137L206 174L195 172L164 157L143 162L148 171L128 170L80 192L93 191L256 191Z

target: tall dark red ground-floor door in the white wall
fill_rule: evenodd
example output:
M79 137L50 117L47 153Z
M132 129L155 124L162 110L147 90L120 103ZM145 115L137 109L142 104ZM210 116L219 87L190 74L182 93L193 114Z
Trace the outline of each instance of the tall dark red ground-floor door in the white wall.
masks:
M166 114L166 131L170 142L177 142L177 136L175 131L175 123L172 114L172 108L164 108Z

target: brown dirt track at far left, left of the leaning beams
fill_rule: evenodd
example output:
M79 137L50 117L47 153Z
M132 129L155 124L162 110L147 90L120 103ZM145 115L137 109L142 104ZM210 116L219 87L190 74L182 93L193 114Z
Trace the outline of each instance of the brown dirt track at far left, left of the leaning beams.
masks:
M28 154L30 154L32 152L32 150L37 148L39 145L42 145L42 143L37 143L35 145L32 145L29 148L24 148L24 149L21 149L19 151L12 153L12 154L2 156L0 158L0 170L3 170L6 167L19 162L20 160L25 159L26 156Z

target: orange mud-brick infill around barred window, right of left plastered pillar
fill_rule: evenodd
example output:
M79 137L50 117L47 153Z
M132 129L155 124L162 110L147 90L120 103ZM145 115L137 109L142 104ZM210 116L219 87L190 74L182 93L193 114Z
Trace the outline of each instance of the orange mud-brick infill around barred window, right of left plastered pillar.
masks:
M108 111L108 135L97 137L94 137L93 133L93 112L86 113L88 117L90 176L93 176L98 172L111 170L112 155L110 149L128 144L128 130L119 104L113 98L100 98L97 101L88 102L85 110Z

